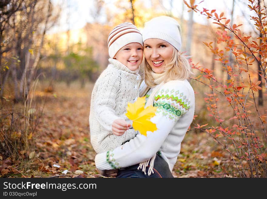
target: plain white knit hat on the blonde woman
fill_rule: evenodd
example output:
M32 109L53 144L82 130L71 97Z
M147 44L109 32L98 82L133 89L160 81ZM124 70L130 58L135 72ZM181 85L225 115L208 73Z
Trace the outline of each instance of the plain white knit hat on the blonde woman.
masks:
M162 39L178 51L181 49L181 26L171 17L160 16L146 22L143 30L143 42L146 39Z

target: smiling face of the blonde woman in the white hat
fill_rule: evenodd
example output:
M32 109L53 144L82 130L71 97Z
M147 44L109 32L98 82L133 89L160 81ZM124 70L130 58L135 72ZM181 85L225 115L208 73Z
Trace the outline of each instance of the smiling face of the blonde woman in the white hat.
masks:
M171 61L174 47L161 39L144 41L144 55L155 73L163 73L166 64Z

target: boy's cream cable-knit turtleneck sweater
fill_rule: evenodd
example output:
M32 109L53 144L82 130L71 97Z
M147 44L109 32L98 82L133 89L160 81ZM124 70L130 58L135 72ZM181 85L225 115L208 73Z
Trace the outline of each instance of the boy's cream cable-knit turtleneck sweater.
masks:
M127 103L138 97L140 84L139 68L131 71L121 62L109 59L110 64L97 79L90 104L90 140L96 153L114 149L136 135L134 129L123 135L112 133L112 123L118 118L132 124L125 113Z

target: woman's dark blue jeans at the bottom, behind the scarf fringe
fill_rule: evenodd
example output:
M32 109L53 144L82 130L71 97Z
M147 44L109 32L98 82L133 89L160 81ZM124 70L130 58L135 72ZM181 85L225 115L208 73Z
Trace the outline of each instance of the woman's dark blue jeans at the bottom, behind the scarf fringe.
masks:
M154 161L154 173L148 175L148 168L150 165L146 167L146 174L141 170L137 169L139 164L135 164L130 167L125 167L119 170L117 177L118 178L172 178L173 175L169 169L169 165L167 162L161 158L158 154L156 155L156 159Z

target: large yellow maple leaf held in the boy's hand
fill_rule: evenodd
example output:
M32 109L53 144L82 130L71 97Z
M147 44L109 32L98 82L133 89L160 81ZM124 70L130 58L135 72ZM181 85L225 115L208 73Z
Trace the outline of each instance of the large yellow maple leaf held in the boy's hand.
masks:
M130 120L133 121L133 128L139 131L140 134L147 136L147 131L156 131L157 126L150 121L155 116L157 107L152 105L144 108L146 97L137 98L134 103L128 102L127 113L125 114Z

